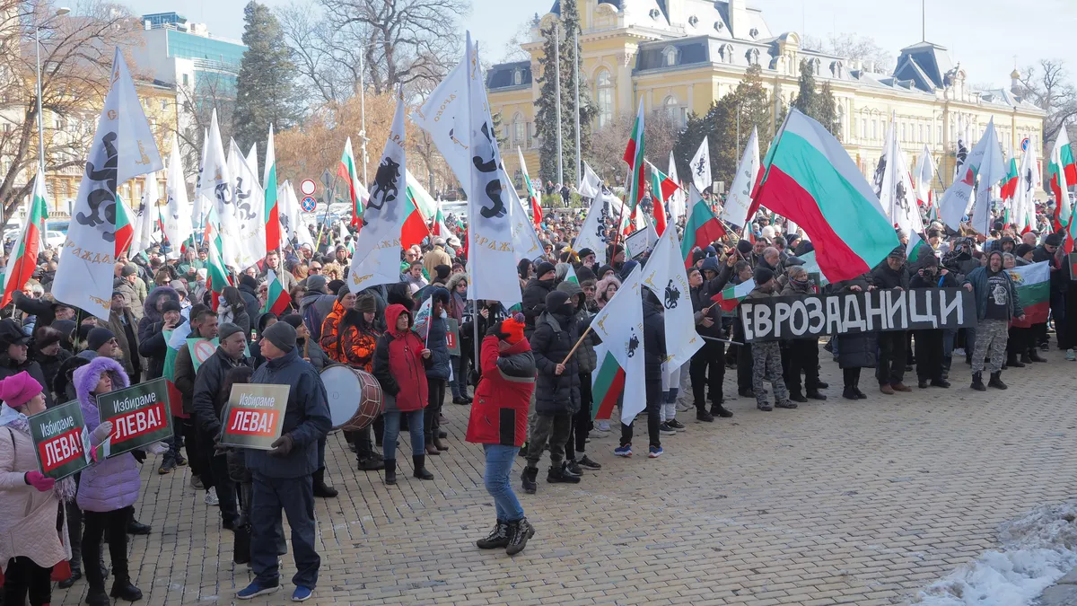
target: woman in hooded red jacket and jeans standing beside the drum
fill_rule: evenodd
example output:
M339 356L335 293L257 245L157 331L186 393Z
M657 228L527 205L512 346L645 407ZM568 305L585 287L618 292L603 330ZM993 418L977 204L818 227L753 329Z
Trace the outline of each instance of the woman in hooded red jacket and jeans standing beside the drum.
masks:
M374 348L374 377L381 384L382 413L386 418L386 484L396 483L396 437L401 432L401 415L408 415L411 433L411 460L415 477L433 480L426 471L426 451L422 435L422 409L426 408L426 367L430 349L411 331L411 313L404 305L386 308L388 330L378 338Z

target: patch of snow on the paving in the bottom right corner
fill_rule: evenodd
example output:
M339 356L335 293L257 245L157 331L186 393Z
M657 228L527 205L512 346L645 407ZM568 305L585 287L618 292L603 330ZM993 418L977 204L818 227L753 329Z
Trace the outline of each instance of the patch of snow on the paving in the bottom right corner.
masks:
M1023 606L1077 566L1077 501L1037 507L998 527L1002 549L920 591L923 606Z

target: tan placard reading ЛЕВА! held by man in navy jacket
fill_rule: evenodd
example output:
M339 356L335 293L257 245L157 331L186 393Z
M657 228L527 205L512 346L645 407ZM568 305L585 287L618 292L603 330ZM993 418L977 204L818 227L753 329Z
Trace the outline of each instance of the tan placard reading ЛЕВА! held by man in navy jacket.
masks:
M237 383L224 408L221 444L268 451L284 427L290 385Z

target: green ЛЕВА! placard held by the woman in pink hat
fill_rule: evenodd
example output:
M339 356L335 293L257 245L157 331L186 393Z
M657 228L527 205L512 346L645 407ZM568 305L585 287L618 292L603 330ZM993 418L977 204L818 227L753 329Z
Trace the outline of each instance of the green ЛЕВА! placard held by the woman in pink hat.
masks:
M55 480L89 466L89 433L79 400L53 407L29 417L30 437L41 472Z

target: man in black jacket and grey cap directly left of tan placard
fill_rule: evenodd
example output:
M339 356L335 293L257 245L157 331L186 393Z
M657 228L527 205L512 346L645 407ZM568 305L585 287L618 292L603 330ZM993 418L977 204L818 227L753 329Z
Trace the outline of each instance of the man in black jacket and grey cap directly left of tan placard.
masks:
M247 366L243 347L247 339L243 331L234 323L221 325L216 352L198 367L195 375L195 423L197 426L198 446L209 454L209 473L202 474L202 484L207 488L216 488L216 498L221 507L221 523L225 528L235 529L236 485L228 477L228 460L224 452L216 450L221 437L221 411L228 399L221 392L225 375L228 371Z

